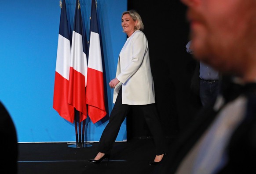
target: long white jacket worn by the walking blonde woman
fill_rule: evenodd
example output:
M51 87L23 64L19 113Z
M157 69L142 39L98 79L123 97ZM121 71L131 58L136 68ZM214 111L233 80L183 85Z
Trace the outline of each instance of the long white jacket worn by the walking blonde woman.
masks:
M121 86L123 104L155 103L148 42L142 31L135 31L124 43L119 54L116 78L120 83L114 89L113 103Z

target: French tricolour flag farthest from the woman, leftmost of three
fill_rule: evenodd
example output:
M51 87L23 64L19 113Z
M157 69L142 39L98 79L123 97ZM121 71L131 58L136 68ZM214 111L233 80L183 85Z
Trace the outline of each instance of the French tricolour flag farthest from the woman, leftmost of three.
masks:
M62 0L57 60L55 69L55 83L53 94L53 108L61 117L73 123L74 107L68 104L69 67L70 67L70 35L66 14L66 2Z

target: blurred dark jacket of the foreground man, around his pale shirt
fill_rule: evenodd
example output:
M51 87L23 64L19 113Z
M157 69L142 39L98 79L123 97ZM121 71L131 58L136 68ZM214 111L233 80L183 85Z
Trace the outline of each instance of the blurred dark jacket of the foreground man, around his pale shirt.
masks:
M229 93L229 100L238 97L239 94L232 94L229 85L223 84L222 87L222 92ZM219 174L256 173L256 84L243 93L248 98L246 116L231 135L227 146L229 161ZM214 102L201 109L193 123L174 142L166 158L155 168L154 174L175 174L183 158L216 117L213 104Z

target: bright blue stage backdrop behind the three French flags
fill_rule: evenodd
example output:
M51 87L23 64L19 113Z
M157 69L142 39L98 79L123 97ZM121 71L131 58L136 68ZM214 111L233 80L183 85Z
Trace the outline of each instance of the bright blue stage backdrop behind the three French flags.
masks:
M75 126L53 109L55 65L59 36L59 0L0 0L0 101L11 115L18 142L75 142ZM80 0L83 25L89 38L91 0ZM76 0L66 0L73 28ZM93 124L87 119L86 141L97 142L113 108L113 89L119 52L126 40L121 14L127 0L97 0L106 73L107 116ZM126 121L117 141L126 141Z

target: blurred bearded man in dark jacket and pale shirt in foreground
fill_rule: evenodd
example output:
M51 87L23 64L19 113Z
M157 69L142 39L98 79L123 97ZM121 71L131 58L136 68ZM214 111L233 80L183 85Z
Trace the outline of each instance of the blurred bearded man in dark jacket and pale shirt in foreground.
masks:
M156 174L256 173L256 0L181 0L194 57L221 89L170 148Z

